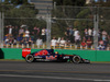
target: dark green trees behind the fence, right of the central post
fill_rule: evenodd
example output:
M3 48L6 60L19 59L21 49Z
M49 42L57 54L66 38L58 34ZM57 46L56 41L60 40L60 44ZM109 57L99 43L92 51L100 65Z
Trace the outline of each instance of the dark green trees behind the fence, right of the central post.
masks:
M55 32L58 32L61 36L64 34L61 31L66 31L67 27L73 26L73 28L78 28L82 35L85 28L94 28L94 15L98 13L99 15L99 28L100 31L105 30L109 33L110 31L110 1L103 2L92 2L90 4L85 4L85 0L54 0L57 5L72 5L72 7L56 7L53 16L57 20L53 25L53 35ZM81 8L87 7L87 8ZM96 8L95 8L96 7ZM102 7L102 8L101 8ZM68 20L74 19L74 20ZM75 20L76 19L76 20ZM82 20L88 19L88 20ZM91 21L90 21L91 20ZM54 27L53 27L54 28ZM58 34L56 34L58 36Z

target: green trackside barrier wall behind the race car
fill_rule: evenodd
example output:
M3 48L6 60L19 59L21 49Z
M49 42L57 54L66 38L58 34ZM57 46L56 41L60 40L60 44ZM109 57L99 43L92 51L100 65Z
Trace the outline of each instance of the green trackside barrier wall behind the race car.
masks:
M38 51L41 49L31 49L31 52ZM84 59L90 61L110 61L110 50L67 50L55 49L59 54L79 55ZM19 59L22 58L22 49L20 48L0 48L0 59Z

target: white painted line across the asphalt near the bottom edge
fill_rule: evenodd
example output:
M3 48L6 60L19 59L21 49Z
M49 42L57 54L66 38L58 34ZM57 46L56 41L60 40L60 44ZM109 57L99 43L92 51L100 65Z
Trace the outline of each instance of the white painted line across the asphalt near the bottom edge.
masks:
M110 82L110 80L99 79L81 79L81 78L63 78L63 77L43 77L43 75L19 75L19 74L0 74L0 77L11 78L38 78L38 79L57 79L57 80L78 80L78 81L95 81L95 82Z

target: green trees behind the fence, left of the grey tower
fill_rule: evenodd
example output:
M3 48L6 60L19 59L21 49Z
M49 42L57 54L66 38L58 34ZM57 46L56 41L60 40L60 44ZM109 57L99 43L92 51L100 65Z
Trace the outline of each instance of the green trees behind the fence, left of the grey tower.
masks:
M4 12L4 25L21 26L28 25L32 31L34 26L45 27L44 20L37 20L38 10L34 4L28 3L28 0L6 0L0 3L0 12Z

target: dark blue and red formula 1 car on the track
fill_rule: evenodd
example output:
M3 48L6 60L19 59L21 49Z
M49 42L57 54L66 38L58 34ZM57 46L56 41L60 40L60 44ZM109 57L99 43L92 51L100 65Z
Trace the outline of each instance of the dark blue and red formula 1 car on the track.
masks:
M42 49L40 51L31 52L31 48L22 49L22 57L26 62L33 61L73 61L74 63L89 63L88 59L82 59L78 55L59 55L54 49Z

